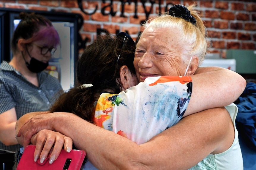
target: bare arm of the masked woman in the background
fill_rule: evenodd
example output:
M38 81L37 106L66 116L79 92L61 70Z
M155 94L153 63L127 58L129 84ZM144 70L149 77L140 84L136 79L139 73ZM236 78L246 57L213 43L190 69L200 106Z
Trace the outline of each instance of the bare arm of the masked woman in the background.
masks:
M0 140L4 145L18 144L15 139L15 124L17 121L15 108L0 114Z

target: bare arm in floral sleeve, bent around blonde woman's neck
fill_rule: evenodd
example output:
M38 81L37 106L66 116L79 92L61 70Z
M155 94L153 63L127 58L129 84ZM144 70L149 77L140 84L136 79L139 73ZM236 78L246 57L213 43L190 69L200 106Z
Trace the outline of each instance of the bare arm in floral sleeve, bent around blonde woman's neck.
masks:
M191 77L193 90L184 116L227 106L236 101L246 86L241 75L221 67L198 67Z

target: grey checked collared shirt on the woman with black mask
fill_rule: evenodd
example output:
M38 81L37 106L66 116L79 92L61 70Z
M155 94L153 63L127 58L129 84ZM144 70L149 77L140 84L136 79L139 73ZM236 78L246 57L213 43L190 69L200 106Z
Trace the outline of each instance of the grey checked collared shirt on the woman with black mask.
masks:
M47 111L62 90L59 80L43 71L37 73L39 87L29 82L14 67L3 61L0 66L0 114L15 108L17 119L26 113ZM17 152L21 145L0 148Z

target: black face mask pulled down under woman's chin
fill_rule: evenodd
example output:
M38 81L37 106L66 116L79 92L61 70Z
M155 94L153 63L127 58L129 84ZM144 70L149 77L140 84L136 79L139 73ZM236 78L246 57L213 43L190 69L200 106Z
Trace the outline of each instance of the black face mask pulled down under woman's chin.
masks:
M28 52L28 51L27 51ZM42 61L39 61L37 59L35 59L34 57L31 57L29 52L29 56L31 58L30 60L30 64L25 60L25 57L23 55L23 53L21 52L22 56L23 56L23 59L24 61L26 62L26 66L28 67L28 69L31 71L31 72L34 72L34 73L39 73L41 71L43 71L44 69L46 69L46 67L49 65L49 62L47 63L44 63Z

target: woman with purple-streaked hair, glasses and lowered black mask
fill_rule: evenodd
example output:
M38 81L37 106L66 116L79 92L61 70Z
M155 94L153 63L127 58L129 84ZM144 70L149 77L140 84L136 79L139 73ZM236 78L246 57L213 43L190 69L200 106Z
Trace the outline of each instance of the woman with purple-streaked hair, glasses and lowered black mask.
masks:
M62 90L59 81L43 71L60 41L56 29L38 14L22 12L20 19L12 37L12 60L0 67L0 148L14 152L21 147L15 139L17 119L49 110Z

